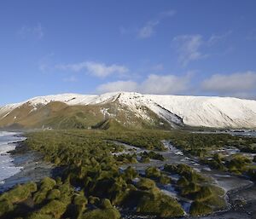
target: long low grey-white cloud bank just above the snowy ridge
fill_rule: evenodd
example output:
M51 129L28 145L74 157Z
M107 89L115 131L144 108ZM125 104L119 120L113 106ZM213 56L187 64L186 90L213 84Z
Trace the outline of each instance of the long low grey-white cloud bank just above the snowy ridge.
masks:
M192 84L195 72L187 72L183 76L173 74L150 74L142 82L114 81L101 84L97 92L133 91L155 95L222 95L240 98L256 98L256 72L237 72L229 75L215 74Z

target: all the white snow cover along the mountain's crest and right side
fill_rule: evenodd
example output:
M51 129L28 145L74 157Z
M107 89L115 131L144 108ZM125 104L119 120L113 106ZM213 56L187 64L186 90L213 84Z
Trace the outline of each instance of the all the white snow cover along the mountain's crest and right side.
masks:
M182 95L141 95L133 92L114 92L103 95L48 95L17 104L0 107L1 119L10 112L29 105L31 111L50 102L61 101L69 106L112 106L117 111L129 111L137 118L152 120L153 112L172 127L188 124L215 128L256 128L256 101L230 97L202 97ZM115 104L118 103L118 104ZM24 109L23 109L24 110ZM105 115L108 108L102 107Z

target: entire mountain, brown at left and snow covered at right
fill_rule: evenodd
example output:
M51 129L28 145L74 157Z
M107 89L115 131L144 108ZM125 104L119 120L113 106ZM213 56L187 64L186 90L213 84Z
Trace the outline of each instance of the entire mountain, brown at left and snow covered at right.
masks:
M256 101L115 92L39 96L0 107L0 127L90 128L108 119L135 127L256 128Z

